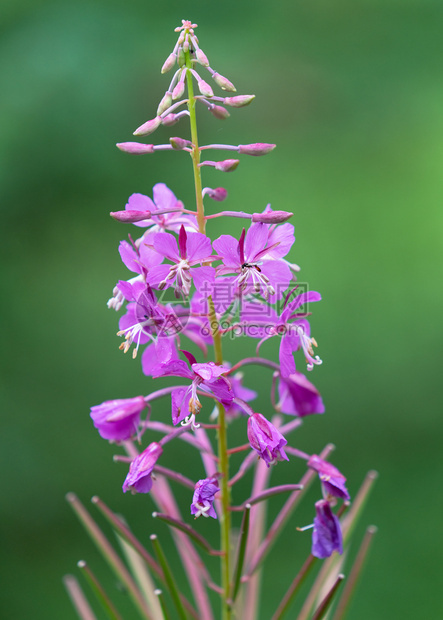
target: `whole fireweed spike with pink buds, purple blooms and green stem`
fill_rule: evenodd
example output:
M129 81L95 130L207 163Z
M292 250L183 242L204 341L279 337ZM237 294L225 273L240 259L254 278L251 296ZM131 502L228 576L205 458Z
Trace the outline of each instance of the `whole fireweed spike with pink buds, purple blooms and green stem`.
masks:
M347 503L349 493L344 475L326 460L331 446L319 456L309 456L288 444L292 431L301 429L302 422L308 422L310 415L322 414L325 410L317 388L295 366L298 351L304 354L308 370L320 365L321 360L314 354L316 341L311 337L308 322L311 305L320 301L320 294L310 287L300 293L302 287L294 284L300 267L288 259L295 241L294 226L288 222L291 211L295 210L293 203L276 205L277 210L273 210L270 204L265 206L266 202L248 205L244 201L236 202L236 197L230 195L230 210L215 209L205 213L205 201L222 202L227 198L225 188L213 189L208 187L209 181L203 182L208 167L230 172L237 168L239 160L229 157L266 155L275 145L258 141L239 144L245 142L240 136L234 144L199 141L199 110L204 114L209 111L214 122L228 122L230 113L242 113L237 109L248 106L254 95L225 96L234 92L235 87L212 68L196 36L196 28L196 24L187 20L176 28L175 44L161 69L162 73L171 71L170 79L165 83L164 92L159 93L150 106L150 120L145 120L134 132L152 136L159 127L165 131L166 127L174 125L166 144L117 144L123 151L122 157L128 153L151 156L168 151L177 161L189 158L195 203L185 207L174 193L179 188L173 191L164 183L156 183L152 198L134 193L125 208L113 205L111 213L118 224L124 224L125 233L130 231L119 246L127 275L119 276L121 279L108 301L110 308L123 309L118 335L124 340L120 341L120 348L124 352L132 348L133 357L140 347L144 348L140 357L143 374L149 377L147 381L144 379L148 388L152 381L161 383L163 378L168 378L170 384L167 387L155 385L145 396L105 401L92 407L90 415L101 437L125 452L115 455L115 460L130 461L123 491L151 492L152 501L171 528L185 568L183 576L189 580L192 601L180 594L181 583L175 583L176 575L169 570L169 562L164 552L160 554L160 547L157 564L120 519L111 511L108 515L112 516L117 531L123 536L130 535L143 551L142 555L152 568L155 587L162 585L161 581L167 586L177 612L172 616L256 620L260 588L252 581L255 579L253 573L271 551L301 499L302 487L307 487L318 473L323 499L315 504L314 523L309 526L314 528L312 554L318 558L343 551L340 523L332 507L340 499ZM175 127L179 120L189 121L184 135L179 135L180 125ZM154 142L152 137L149 142ZM214 157L211 153L211 160L203 161L207 150L219 153ZM256 159L256 165L257 174L260 174L263 160ZM226 178L229 181L229 175ZM186 192L189 195L189 187ZM226 222L232 225L232 234L220 236L217 233L221 217L230 218ZM249 220L249 228L242 230L239 219ZM138 234L134 234L135 231ZM218 238L213 240L214 237ZM247 348L251 341L244 336L258 339L255 357L249 357L251 352ZM243 339L235 350L245 349L246 357L232 360L228 347L224 350L223 344L237 338ZM262 345L268 339L278 340L278 363L275 358L258 357L258 351L264 355L267 350L267 345ZM179 352L186 361L180 359ZM254 375L249 374L251 365L259 365L264 373L270 373L270 380L263 381L261 386L262 379L256 375L254 382ZM263 390L259 388L264 386L264 396L268 398L266 391L271 387L270 402L278 414L272 418L273 422L248 404L259 393L262 395ZM141 388L140 393L144 394L145 389ZM165 422L164 406L160 404L161 399L169 396L172 424ZM142 419L145 408L149 415ZM293 419L282 425L281 414L293 416ZM151 443L143 446L144 438L152 432L160 434L161 438L157 441L150 438ZM144 448L140 454L135 439L142 445L141 450ZM177 451L183 451L180 451L179 471L158 464L163 446L168 442L174 442ZM203 462L201 469L196 464L198 459L189 458L190 450L199 452ZM238 469L230 472L231 456L235 462L241 452L244 457ZM270 466L278 461L289 461L287 454L296 458L291 458L285 469L291 472L293 481L301 479L301 484L273 483L270 487ZM257 462L257 456L266 467ZM157 480L153 484L154 471ZM233 486L252 471L252 495L238 497ZM179 508L173 493L176 484L193 490L191 514L189 496L185 510ZM236 500L234 505L231 488ZM264 502L273 502L275 495L287 493L290 493L288 499L266 529L262 514ZM360 503L357 500L356 504L358 508L360 492L357 497L360 498ZM251 504L254 505L252 510ZM243 513L241 527L238 512ZM351 509L347 517L352 516L354 520L360 510L353 513ZM183 519L181 514L187 516ZM215 548L196 529L201 519L196 528L187 522L191 515L211 517L207 525L220 527L219 544ZM232 525L240 527L238 537L233 536ZM212 556L219 556L220 583L212 581L209 574L212 566L210 571L204 566L194 544ZM328 564L324 568L328 569ZM298 569L294 567L296 573ZM323 573L320 573L321 579ZM291 580L292 577L289 582ZM144 601L152 602L152 593L143 591L142 585L139 591L135 581L134 594L140 595L135 596L137 601L143 600L143 617L151 617L151 612L145 613ZM220 613L212 609L207 586L220 595ZM240 594L240 589L245 588L246 592ZM273 618L282 618L281 606L288 609L293 593L294 588L289 586ZM157 617L158 614L153 612L153 615Z

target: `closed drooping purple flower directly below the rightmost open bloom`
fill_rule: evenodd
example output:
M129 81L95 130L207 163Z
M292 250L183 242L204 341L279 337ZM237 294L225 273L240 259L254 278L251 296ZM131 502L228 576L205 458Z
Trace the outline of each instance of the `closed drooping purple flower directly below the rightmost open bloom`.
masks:
M324 413L323 400L315 387L301 372L288 377L280 376L277 410L303 418L314 413Z

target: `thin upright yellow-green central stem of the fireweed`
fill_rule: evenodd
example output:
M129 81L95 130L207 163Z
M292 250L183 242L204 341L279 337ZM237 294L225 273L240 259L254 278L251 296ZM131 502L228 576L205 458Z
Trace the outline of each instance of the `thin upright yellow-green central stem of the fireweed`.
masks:
M194 97L194 85L192 82L192 60L189 52L185 53L186 59L186 82L188 87L188 110L191 126L191 141L192 141L192 165L194 169L194 184L195 184L195 200L197 205L197 222L199 231L205 233L206 221L205 221L205 209L203 205L202 196L202 180L200 172L200 151L198 148L198 134L197 134L197 117L195 113ZM214 358L217 364L223 362L223 351L221 343L221 333L217 321L217 315L215 313L214 303L212 298L209 297L209 324L211 326L212 338L214 341ZM230 535L231 535L231 511L230 511L230 489L228 486L229 481L229 455L228 455L228 439L227 428L225 419L225 410L222 405L218 406L218 456L219 456L219 472L221 477L221 515L220 515L220 537L221 537L221 550L223 552L221 556L221 574L222 574L222 620L230 620L232 618L230 599L230 560L231 560L231 548L230 548Z

